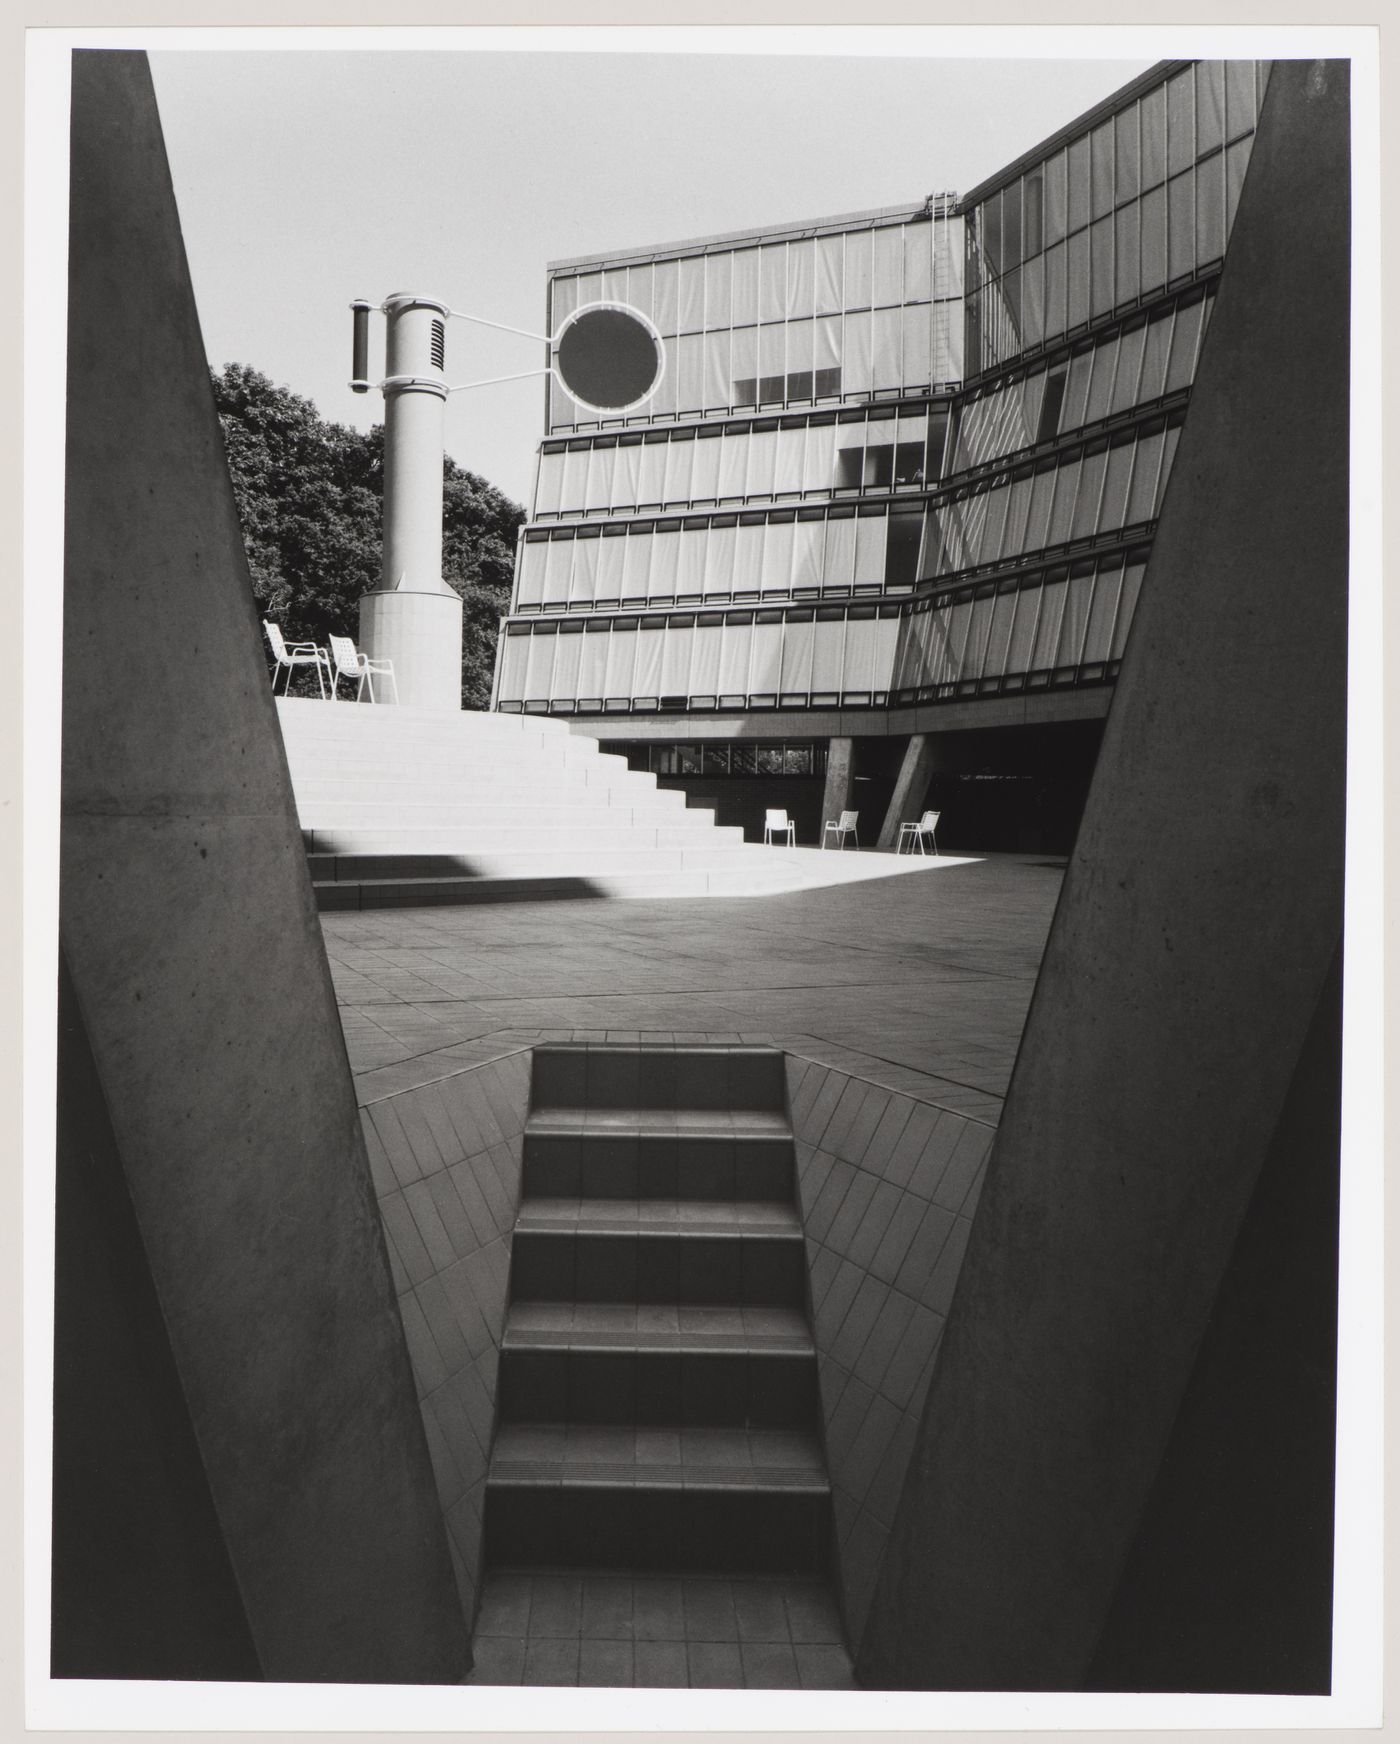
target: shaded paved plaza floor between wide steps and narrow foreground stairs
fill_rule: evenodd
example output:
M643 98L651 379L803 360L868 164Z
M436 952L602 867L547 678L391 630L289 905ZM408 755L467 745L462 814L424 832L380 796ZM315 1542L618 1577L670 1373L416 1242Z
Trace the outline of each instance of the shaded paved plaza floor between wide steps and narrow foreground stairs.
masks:
M873 856L870 856L873 858ZM361 1099L504 1041L762 1039L996 1120L1064 862L795 895L326 914Z

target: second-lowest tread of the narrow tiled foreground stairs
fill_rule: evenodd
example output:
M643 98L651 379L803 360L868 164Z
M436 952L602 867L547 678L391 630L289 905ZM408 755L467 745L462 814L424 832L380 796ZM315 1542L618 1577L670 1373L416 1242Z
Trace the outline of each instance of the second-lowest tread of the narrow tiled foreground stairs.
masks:
M800 1308L675 1303L513 1301L502 1350L631 1350L642 1353L811 1355Z

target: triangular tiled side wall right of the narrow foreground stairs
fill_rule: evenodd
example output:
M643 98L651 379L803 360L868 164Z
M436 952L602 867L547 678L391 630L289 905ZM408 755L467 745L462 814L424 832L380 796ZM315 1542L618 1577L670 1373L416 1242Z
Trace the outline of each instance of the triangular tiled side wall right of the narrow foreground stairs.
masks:
M889 1542L994 1127L786 1059L847 1639Z

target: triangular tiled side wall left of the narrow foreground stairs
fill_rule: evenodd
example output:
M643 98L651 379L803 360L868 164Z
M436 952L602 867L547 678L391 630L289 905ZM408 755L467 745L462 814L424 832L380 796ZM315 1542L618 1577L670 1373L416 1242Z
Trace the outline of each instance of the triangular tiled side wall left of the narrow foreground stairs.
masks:
M413 1381L471 1622L495 1425L530 1050L361 1109Z

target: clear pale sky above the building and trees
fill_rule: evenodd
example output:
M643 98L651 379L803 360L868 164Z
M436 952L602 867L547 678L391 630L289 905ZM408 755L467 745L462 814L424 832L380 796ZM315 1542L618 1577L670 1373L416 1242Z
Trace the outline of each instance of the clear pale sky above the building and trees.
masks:
M732 40L732 38L731 38ZM966 192L1147 61L830 54L152 52L204 345L368 427L349 303L542 333L546 263ZM371 317L371 377L384 323ZM530 370L453 321L448 380ZM446 452L528 501L544 378L453 394Z

